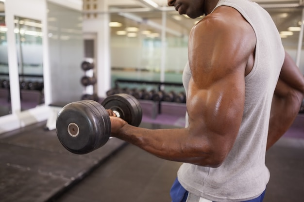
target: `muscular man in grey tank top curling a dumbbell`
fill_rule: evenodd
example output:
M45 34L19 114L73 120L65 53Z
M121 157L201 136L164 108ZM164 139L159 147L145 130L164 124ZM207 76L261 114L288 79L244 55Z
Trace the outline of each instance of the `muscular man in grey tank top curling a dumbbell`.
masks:
M297 116L304 77L271 17L256 3L168 4L191 18L205 15L189 37L186 127L138 128L111 116L112 135L184 162L172 186L173 202L261 202L270 178L266 150Z

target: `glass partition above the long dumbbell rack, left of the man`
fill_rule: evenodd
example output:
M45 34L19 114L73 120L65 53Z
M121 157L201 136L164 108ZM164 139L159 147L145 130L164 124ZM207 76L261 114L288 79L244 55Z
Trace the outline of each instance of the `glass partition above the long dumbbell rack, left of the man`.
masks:
M188 34L198 19L173 12L164 16L155 11L112 13L110 19L112 87L117 79L161 81L162 60L165 61L162 81L182 83ZM164 21L165 45L162 44ZM126 85L133 87L130 83Z

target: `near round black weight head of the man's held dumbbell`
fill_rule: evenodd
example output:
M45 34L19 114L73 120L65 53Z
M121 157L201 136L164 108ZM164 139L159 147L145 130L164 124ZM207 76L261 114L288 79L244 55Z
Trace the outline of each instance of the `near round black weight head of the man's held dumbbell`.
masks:
M96 101L82 100L66 105L58 114L56 132L62 145L74 154L87 154L110 137L108 112Z

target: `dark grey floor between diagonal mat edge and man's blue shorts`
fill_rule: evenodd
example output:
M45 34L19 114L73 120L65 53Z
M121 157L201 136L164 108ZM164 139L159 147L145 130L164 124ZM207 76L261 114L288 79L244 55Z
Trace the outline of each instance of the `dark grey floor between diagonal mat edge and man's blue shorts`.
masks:
M56 202L170 202L180 163L128 145Z

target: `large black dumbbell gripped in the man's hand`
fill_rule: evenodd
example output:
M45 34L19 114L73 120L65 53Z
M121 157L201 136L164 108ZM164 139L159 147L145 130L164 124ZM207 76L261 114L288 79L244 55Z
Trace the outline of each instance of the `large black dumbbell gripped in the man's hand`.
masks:
M140 104L129 94L108 96L101 104L94 100L72 102L57 116L56 133L61 144L74 154L87 154L103 146L111 134L111 121L106 109L111 109L128 124L137 127L141 123Z

